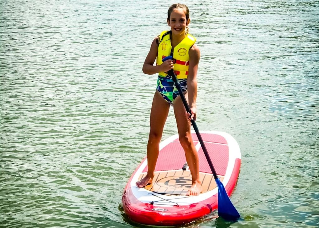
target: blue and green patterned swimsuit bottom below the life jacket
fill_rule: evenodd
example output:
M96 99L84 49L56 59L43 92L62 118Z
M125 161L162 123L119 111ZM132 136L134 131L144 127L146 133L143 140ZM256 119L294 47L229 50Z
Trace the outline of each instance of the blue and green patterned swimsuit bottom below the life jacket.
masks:
M177 79L183 92L187 91L187 79ZM157 79L157 91L173 106L174 99L179 95L173 79L169 76L160 76Z

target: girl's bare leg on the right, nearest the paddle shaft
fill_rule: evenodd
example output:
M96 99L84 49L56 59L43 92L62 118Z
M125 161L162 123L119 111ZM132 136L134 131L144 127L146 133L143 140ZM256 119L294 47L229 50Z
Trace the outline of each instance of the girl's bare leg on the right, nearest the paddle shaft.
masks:
M185 98L188 100L187 92ZM174 100L174 113L177 123L179 140L185 151L186 161L189 165L189 170L192 175L192 186L188 191L188 195L199 195L202 192L202 185L199 179L199 161L198 154L195 148L191 133L190 133L190 120L186 113L180 96Z

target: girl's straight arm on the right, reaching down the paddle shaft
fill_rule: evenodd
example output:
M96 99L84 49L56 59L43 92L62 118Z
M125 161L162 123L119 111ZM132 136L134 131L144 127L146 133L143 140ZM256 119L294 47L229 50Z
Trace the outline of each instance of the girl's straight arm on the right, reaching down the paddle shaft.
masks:
M191 119L196 119L197 98L197 69L200 59L200 51L196 44L189 49L189 70L187 76L188 104L191 110Z

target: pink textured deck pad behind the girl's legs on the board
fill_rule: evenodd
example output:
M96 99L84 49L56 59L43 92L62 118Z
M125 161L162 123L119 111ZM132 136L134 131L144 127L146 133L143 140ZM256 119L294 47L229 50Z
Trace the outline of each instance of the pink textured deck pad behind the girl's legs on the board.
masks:
M211 158L211 162L218 175L224 176L228 164L229 150L227 141L224 137L215 134L201 134L206 149ZM195 133L192 134L195 145L198 142ZM213 143L212 143L213 142ZM222 143L222 144L218 144ZM223 145L224 144L224 145ZM204 151L202 148L198 151L199 158L199 171L211 173L211 169L207 163ZM179 143L179 140L174 140L174 142L169 143L159 152L159 157L157 159L155 171L166 171L166 170L179 170L182 169L186 162L184 150ZM147 172L147 166L143 170Z

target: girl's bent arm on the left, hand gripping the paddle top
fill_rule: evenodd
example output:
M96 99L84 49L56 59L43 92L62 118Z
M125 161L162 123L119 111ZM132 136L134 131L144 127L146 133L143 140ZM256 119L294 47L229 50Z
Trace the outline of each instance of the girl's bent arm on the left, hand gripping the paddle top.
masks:
M155 74L158 72L166 72L174 68L173 60L171 59L166 60L161 65L153 65L157 56L157 49L158 49L156 40L157 40L157 37L155 37L155 39L153 40L151 44L151 49L148 52L143 64L143 73L145 74Z

